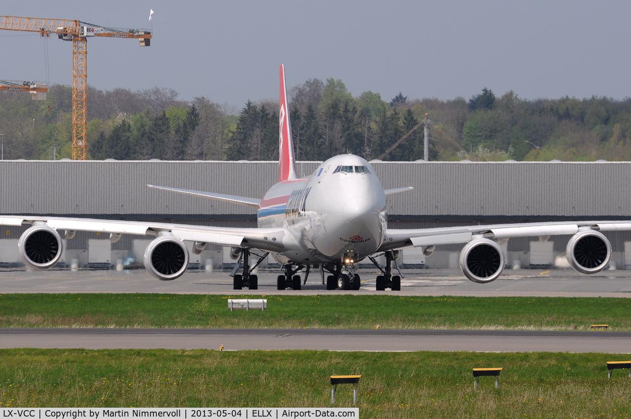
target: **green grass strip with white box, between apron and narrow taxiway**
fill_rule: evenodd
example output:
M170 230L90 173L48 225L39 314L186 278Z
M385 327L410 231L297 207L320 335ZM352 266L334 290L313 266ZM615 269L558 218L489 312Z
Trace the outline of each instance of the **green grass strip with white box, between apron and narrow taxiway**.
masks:
M251 297L236 295L236 298ZM261 298L256 296L253 298ZM628 298L274 295L228 310L225 295L3 294L0 327L631 330Z

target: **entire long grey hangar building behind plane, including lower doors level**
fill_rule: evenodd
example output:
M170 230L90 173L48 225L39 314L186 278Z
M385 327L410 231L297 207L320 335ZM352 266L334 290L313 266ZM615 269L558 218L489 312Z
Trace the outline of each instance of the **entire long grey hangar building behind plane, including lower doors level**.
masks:
M321 162L297 162L308 176ZM631 162L379 162L384 189L413 186L387 197L389 228L431 228L565 220L631 220ZM0 161L0 214L160 221L256 227L253 208L150 189L147 184L262 198L278 177L278 162ZM1 227L0 267L22 266L17 242L27 227ZM631 232L604 232L610 269L631 269ZM510 239L508 268L564 268L570 236ZM77 232L64 239L60 266L141 266L148 237ZM191 244L189 244L190 246ZM463 245L439 245L432 256L404 249L399 264L457 268ZM189 268L232 268L228 248L208 245ZM368 261L368 259L365 259ZM270 267L273 259L268 259ZM369 263L369 262L368 262Z

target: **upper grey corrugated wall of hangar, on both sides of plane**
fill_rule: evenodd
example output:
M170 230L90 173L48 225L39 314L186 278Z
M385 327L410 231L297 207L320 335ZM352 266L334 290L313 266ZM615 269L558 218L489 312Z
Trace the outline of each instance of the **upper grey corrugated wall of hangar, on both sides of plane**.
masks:
M297 163L309 175L317 162ZM401 216L631 218L631 162L380 162ZM0 162L0 214L248 215L252 208L146 184L261 198L277 162Z

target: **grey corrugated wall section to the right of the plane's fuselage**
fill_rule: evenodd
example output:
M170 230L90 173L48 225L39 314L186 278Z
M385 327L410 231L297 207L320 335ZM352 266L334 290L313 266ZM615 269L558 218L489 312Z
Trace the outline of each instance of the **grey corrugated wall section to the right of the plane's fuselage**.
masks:
M398 215L631 216L631 162L375 163Z

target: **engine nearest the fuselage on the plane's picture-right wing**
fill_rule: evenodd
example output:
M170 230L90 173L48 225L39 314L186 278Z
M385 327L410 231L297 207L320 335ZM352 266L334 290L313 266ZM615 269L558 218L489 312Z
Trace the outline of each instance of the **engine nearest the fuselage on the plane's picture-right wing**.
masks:
M460 269L464 276L480 284L497 280L504 271L504 264L504 252L493 240L472 240L460 253Z

